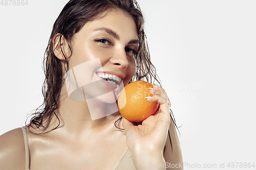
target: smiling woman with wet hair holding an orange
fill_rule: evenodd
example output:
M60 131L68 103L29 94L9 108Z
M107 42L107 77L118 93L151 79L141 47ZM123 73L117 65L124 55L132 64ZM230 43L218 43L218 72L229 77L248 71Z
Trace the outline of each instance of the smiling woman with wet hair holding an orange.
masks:
M138 126L120 118L113 109L115 100L104 92L93 96L105 88L95 84L98 81L117 92L119 81L125 86L135 80L157 80L143 22L133 0L71 0L63 8L46 50L44 108L26 129L0 137L1 169L182 169L163 88L154 84L150 90L153 97L145 100L157 101L160 108ZM107 83L106 74L116 81ZM87 81L80 88L83 76ZM79 90L84 100L76 98ZM89 104L88 96L98 103ZM105 114L107 110L111 111Z

